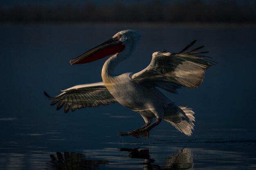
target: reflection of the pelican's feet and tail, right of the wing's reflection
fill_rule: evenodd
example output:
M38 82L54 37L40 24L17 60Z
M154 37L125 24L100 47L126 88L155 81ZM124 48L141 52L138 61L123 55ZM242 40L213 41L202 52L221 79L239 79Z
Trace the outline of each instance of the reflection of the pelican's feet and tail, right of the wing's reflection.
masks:
M191 149L183 148L166 159L164 167L153 165L155 159L150 159L149 150L139 148L119 148L120 151L127 151L131 159L145 159L144 170L188 170L193 168L193 154Z

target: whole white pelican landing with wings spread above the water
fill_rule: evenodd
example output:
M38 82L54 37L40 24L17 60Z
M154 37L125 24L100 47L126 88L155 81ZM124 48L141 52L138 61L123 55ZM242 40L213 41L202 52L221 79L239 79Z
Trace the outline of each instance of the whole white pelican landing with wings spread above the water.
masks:
M71 65L83 64L111 55L102 68L103 82L67 88L55 97L44 92L49 99L54 99L51 105L58 103L59 110L65 104L64 110L67 113L70 107L74 111L118 102L139 113L145 121L144 126L127 133L118 132L118 135L148 138L149 131L164 119L177 130L191 136L195 121L192 109L176 106L157 88L171 93L177 93L180 87L197 88L213 61L199 55L207 52L195 52L204 46L188 50L195 40L180 53L169 53L166 50L153 53L150 64L138 73L116 74L116 66L131 55L140 37L137 31L120 31L110 40L70 60Z

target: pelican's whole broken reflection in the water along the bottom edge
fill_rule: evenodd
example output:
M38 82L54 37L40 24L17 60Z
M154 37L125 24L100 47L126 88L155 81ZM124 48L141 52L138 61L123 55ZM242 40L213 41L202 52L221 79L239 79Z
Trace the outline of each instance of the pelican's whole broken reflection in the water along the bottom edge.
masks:
M189 148L178 150L168 156L164 165L157 165L155 158L150 158L148 149L119 148L119 151L129 152L131 159L144 159L143 170L188 170L193 168L193 154ZM88 160L86 155L74 152L56 152L50 155L51 170L98 170L100 165L110 163L107 160ZM128 168L128 167L127 167Z

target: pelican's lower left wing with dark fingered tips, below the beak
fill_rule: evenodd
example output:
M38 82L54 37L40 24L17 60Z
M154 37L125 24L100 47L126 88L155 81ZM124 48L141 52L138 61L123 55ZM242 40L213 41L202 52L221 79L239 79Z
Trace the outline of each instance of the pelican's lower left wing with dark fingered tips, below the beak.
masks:
M103 82L81 84L61 91L63 93L55 97L50 97L46 92L44 93L49 99L54 99L51 105L58 103L57 110L65 104L65 113L69 111L70 107L74 111L78 108L96 107L101 104L108 105L117 102Z

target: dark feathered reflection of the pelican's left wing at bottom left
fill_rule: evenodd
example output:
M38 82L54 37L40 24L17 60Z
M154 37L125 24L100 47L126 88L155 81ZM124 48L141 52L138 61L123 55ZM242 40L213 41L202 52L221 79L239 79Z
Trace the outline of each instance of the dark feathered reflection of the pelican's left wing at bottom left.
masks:
M56 152L56 155L50 155L51 169L53 170L97 170L99 165L108 164L105 160L87 160L85 155L74 152Z

